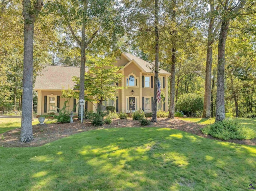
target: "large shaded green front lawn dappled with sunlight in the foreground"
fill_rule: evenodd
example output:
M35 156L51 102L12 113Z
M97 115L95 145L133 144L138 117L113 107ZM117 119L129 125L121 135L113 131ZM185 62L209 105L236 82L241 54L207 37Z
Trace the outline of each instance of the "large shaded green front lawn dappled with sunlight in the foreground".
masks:
M92 130L0 153L0 190L236 191L256 181L255 146L167 128Z

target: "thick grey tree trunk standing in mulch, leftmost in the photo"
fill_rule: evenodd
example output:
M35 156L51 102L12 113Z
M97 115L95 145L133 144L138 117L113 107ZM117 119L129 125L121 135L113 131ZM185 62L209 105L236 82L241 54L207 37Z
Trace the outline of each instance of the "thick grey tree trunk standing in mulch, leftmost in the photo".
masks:
M20 141L33 140L32 103L33 103L33 41L35 18L43 6L43 0L37 0L32 7L30 0L23 0L24 17L24 58L23 58L23 91Z

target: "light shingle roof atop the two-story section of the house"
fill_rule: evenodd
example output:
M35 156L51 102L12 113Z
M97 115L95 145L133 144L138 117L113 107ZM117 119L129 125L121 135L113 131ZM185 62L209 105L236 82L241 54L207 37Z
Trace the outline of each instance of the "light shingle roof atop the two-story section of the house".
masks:
M136 57L136 56L134 56L134 55L132 55L132 54L130 54L130 53L123 53L123 55L124 55L129 61L134 60L146 73L151 73L151 68L152 68L152 66L154 65L154 62L153 62L153 63L149 63L149 62L144 61L144 60L142 60L141 58ZM130 64L130 62L127 63L126 65L128 65L128 64ZM125 66L126 66L126 65L125 65ZM125 67L125 66L124 66L124 67ZM144 71L143 71L143 72L144 72ZM163 70L163 69L160 69L160 68L159 68L159 73L160 73L160 74L171 75L169 72L167 72L167 71L165 71L165 70Z

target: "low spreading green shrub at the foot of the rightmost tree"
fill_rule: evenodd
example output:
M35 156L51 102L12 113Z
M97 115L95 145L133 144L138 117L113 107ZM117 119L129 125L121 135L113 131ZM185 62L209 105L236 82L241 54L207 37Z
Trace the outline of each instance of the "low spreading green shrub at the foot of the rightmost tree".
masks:
M252 139L256 137L256 133L250 129L242 126L238 122L225 119L220 122L215 122L202 129L206 135L211 135L218 139Z

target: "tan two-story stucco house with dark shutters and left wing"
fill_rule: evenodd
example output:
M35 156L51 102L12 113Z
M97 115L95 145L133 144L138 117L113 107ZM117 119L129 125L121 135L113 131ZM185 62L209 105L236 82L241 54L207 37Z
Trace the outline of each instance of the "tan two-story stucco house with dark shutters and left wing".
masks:
M141 108L144 112L152 111L152 101L154 97L154 74L151 73L148 63L129 53L122 53L120 58L114 63L122 67L119 72L123 74L119 86L126 87L118 90L115 98L108 98L103 102L104 106L115 106L116 112L133 112ZM88 69L86 70L86 72ZM158 110L168 110L168 76L170 73L159 70L159 80L162 92L165 98L158 103ZM75 83L72 81L73 76L80 76L80 67L68 67L57 65L46 65L40 75L36 77L34 89L38 92L38 114L47 114L55 108L62 108L65 98L62 98L62 89L73 88ZM78 103L78 99L70 100L70 109ZM96 112L96 108L91 102L86 102L86 110ZM78 112L78 106L74 110Z

